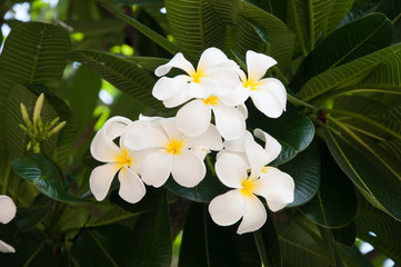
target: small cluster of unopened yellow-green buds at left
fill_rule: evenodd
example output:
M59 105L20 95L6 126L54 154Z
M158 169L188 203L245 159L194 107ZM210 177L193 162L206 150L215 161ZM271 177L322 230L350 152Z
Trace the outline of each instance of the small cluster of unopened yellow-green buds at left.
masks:
M32 120L28 116L27 108L23 103L21 103L21 113L24 125L20 125L20 128L27 132L28 136L28 144L27 144L27 151L32 149L34 154L40 152L40 145L48 140L52 135L59 132L64 126L66 121L59 120L60 118L57 117L52 121L43 122L40 118L40 112L42 111L44 101L44 96L41 93L34 105L33 109L33 118Z

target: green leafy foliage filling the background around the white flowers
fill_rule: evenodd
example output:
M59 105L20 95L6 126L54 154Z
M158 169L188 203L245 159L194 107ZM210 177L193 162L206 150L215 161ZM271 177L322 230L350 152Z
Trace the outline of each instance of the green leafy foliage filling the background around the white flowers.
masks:
M30 22L10 16L19 2ZM18 212L0 226L17 249L0 265L401 264L400 17L399 0L1 1L11 32L0 39L0 186ZM283 116L250 108L248 127L281 142L273 165L293 177L295 200L253 234L209 217L228 190L212 171L196 188L147 188L136 205L118 184L102 202L89 190L96 130L114 115L172 115L151 96L153 70L179 51L196 63L209 47L241 66L247 50L273 57L268 76L288 90ZM43 120L67 127L32 155L20 103L31 115L41 92ZM362 241L374 249L363 255Z

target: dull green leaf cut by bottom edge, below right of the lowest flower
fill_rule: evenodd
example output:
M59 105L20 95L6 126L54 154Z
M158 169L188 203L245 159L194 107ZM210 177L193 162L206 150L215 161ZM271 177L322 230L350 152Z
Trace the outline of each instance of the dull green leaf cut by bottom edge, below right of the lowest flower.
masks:
M292 218L275 226L282 251L282 266L330 266L330 255L319 229L301 219Z

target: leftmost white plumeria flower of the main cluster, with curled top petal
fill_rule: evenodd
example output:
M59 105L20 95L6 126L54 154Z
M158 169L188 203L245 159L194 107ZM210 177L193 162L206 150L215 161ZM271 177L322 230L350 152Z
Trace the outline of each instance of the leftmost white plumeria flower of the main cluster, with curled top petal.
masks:
M89 178L90 189L98 201L106 198L111 182L119 171L119 195L128 202L134 204L142 199L146 188L137 174L140 169L142 155L130 151L123 145L122 134L131 120L124 117L112 117L97 132L90 151L94 159L106 162L94 168ZM114 139L120 137L120 146Z

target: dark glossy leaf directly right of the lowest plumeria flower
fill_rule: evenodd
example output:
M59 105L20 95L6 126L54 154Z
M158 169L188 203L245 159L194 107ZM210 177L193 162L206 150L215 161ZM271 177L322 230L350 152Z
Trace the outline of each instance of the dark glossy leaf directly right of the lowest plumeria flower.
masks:
M294 200L288 207L303 205L311 200L319 190L321 179L321 157L315 139L304 151L291 161L280 166L295 182Z

